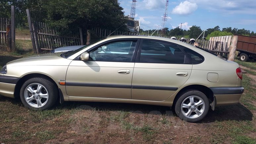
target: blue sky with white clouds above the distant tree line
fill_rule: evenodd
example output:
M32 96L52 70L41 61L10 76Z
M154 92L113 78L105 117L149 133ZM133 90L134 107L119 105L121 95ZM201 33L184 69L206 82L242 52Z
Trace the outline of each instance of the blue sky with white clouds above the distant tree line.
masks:
M119 0L125 15L130 14L132 0ZM161 29L166 0L137 0L135 20L142 29ZM256 32L256 0L169 0L169 29L182 23L182 29L192 25L201 29L217 25Z

